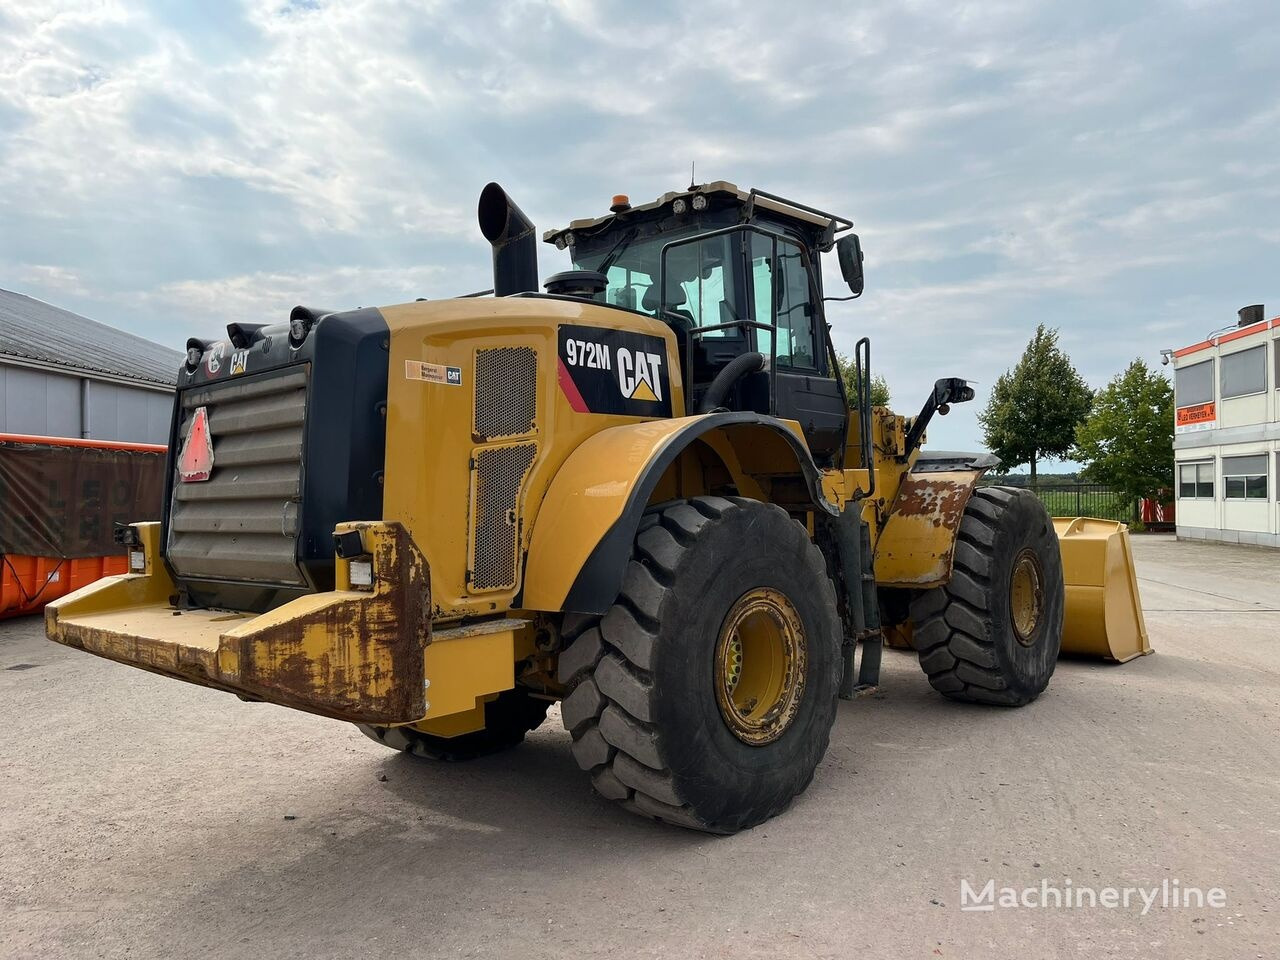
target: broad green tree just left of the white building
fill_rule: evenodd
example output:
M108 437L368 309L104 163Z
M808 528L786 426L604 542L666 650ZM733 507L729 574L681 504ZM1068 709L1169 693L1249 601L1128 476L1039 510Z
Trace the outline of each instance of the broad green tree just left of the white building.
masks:
M1172 486L1172 384L1134 360L1094 396L1075 442L1085 480L1111 484L1130 499Z

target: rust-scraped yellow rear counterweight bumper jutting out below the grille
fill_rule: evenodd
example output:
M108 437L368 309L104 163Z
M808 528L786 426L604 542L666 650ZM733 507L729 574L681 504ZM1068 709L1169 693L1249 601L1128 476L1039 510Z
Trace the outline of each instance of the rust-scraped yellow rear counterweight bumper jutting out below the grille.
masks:
M50 607L49 636L251 700L361 723L416 721L426 712L426 559L399 524L343 527L360 529L372 556L369 593L310 594L255 617L177 611L160 599L164 573L125 576Z

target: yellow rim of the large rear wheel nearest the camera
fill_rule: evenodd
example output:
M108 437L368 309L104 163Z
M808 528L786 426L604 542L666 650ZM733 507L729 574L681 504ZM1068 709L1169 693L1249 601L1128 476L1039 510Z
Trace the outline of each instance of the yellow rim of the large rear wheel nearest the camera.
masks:
M748 590L716 640L716 703L744 744L777 740L800 708L806 664L804 626L777 590Z

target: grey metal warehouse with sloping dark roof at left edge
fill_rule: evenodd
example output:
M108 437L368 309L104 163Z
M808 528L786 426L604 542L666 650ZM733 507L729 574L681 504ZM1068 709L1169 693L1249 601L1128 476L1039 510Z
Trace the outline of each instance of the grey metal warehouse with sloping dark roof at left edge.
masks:
M183 355L0 289L0 433L168 443Z

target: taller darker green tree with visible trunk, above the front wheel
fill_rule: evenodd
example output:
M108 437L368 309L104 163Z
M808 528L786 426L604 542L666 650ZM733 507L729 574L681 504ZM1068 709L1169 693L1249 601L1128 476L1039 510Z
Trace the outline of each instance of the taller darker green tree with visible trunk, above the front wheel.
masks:
M1041 458L1062 460L1070 453L1092 398L1071 358L1057 346L1057 330L1041 324L1018 366L996 379L978 422L1001 468L1028 463L1034 484Z

